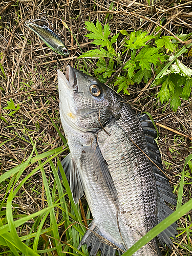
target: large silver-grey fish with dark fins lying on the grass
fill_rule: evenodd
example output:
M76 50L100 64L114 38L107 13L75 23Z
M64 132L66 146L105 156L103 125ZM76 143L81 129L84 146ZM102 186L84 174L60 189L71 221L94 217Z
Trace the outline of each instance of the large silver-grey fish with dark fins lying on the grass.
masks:
M146 114L137 115L130 104L95 77L67 66L58 72L60 119L70 153L61 164L74 202L85 195L93 221L82 237L90 255L119 255L134 245L173 210L176 196L163 171L157 135ZM153 160L153 163L146 157ZM61 171L58 169L60 179ZM172 247L169 237L177 224L158 236ZM134 256L160 256L157 238Z

